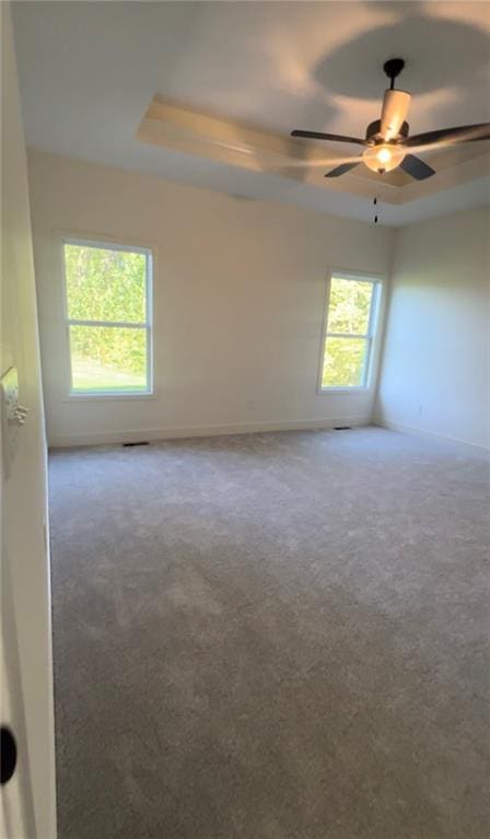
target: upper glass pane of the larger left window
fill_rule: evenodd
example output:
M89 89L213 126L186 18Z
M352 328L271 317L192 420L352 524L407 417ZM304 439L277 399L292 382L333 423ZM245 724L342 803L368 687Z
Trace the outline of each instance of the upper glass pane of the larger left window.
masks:
M65 265L70 319L145 322L145 254L66 244Z

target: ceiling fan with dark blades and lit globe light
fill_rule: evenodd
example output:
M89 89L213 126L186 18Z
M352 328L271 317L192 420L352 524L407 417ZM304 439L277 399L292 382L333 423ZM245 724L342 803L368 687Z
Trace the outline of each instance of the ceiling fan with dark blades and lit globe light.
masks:
M462 142L490 139L490 123L474 126L458 126L456 128L442 128L436 131L409 137L409 125L406 121L411 96L405 91L395 90L395 79L405 67L402 58L390 58L383 69L390 80L390 85L383 98L381 119L370 123L366 128L365 139L358 137L343 137L342 135L324 133L323 131L294 130L291 137L304 137L312 140L329 140L330 142L355 143L364 145L361 156L341 163L336 168L327 172L325 177L339 177L359 166L360 163L373 172L384 175L399 166L416 180L435 175L435 170L428 163L411 154L410 150L424 151L434 145L453 145Z

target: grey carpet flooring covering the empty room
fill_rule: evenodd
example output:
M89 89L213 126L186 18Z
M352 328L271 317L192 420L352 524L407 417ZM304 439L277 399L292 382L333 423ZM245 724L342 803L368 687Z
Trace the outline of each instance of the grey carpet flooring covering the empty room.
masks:
M60 839L487 839L489 487L375 428L52 453Z

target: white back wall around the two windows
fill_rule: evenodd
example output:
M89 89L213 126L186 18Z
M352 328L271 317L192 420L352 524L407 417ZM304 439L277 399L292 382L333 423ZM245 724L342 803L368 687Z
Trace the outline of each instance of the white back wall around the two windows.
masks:
M393 232L32 153L51 444L365 422L373 391L316 393L329 266L385 273ZM67 399L59 231L154 245L154 399Z

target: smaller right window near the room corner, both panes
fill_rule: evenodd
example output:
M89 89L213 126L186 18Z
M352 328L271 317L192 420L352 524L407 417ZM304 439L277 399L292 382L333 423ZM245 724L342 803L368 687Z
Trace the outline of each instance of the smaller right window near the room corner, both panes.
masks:
M320 389L366 387L380 305L378 280L332 273Z

